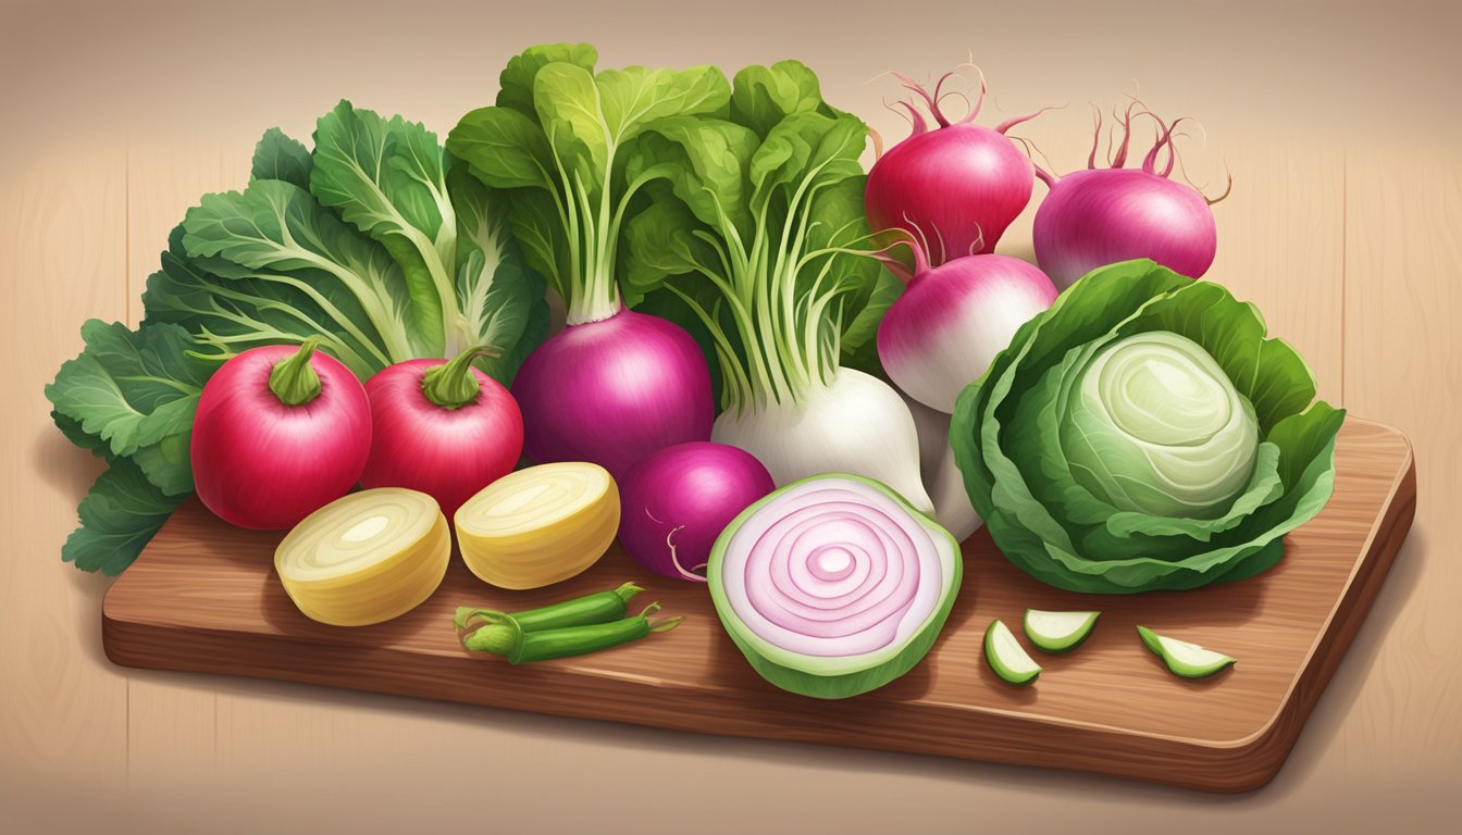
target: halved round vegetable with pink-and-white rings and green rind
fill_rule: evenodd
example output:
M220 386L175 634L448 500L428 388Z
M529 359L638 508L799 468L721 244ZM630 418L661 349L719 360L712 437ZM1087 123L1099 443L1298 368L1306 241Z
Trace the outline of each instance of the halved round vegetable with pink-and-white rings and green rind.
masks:
M924 658L962 572L959 544L937 522L877 481L827 474L737 516L708 579L721 623L762 677L842 699Z

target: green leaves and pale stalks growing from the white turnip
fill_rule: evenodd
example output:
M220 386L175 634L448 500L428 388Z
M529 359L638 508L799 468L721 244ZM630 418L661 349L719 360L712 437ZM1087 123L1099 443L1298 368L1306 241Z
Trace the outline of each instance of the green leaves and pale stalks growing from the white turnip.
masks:
M722 408L797 402L842 364L877 367L902 285L868 252L867 135L810 69L779 61L738 72L727 113L655 124L630 155L655 200L626 230L626 294L709 342Z

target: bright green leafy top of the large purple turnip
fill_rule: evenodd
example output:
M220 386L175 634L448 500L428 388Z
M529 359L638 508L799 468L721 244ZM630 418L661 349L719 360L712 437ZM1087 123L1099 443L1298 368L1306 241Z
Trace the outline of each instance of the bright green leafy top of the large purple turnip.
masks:
M715 67L595 73L596 60L586 44L526 50L503 70L497 105L468 113L447 136L474 175L509 190L515 235L570 323L620 309L620 231L652 178L626 177L629 148L661 120L724 113L731 95Z

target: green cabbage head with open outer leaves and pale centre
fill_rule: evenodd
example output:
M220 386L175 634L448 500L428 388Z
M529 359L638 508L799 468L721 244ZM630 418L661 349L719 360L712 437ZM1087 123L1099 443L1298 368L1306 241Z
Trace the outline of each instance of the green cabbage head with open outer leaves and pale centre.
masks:
M1022 570L1096 594L1253 576L1335 485L1344 409L1253 304L1151 260L1098 269L959 396L969 500Z

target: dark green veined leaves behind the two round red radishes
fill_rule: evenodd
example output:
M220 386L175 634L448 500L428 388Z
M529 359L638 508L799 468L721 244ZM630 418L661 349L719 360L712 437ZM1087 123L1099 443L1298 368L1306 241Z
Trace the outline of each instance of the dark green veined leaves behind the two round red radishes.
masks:
M507 383L542 342L542 278L431 132L341 102L314 145L265 133L247 187L206 194L170 235L142 326L88 322L47 386L61 431L110 464L61 551L77 567L121 572L192 493L199 393L244 350L313 336L364 380L488 344L478 364Z

